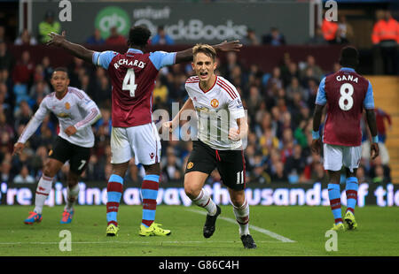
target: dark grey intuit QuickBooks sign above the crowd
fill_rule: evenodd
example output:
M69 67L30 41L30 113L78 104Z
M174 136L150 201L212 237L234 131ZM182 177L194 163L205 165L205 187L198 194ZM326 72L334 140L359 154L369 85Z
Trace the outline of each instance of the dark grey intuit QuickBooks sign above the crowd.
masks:
M131 25L145 25L153 34L163 26L176 43L243 40L248 28L261 39L270 27L278 27L292 44L308 41L312 24L308 2L241 2L216 1L210 5L191 1L116 1L110 5L108 1L73 1L71 19L61 22L61 28L69 41L78 43L86 42L95 28L106 38L110 27L117 26L120 34L127 35L126 27L129 30ZM59 12L59 1L35 1L32 26L38 26L49 10ZM36 35L37 28L32 32Z

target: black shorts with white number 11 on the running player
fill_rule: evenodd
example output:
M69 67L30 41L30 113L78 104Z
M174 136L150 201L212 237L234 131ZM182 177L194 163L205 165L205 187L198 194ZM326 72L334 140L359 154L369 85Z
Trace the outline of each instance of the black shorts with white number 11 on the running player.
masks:
M210 174L215 168L219 171L224 186L234 190L243 190L246 187L246 161L242 149L219 150L202 141L192 141L192 153L185 173L200 171Z

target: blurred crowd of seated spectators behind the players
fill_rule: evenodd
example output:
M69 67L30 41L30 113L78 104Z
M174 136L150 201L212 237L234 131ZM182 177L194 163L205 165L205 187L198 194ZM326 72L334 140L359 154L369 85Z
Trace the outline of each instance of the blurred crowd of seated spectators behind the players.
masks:
M258 65L245 67L235 53L218 59L216 73L222 75L238 89L248 115L246 181L263 184L289 182L327 182L322 158L311 153L312 113L320 80L325 76L315 57L309 55L301 62L293 62L286 53L281 64L270 72L262 72ZM111 84L103 68L74 58L66 64L70 86L81 88L98 103L102 118L92 126L96 136L90 163L82 175L83 181L107 181L112 172L111 148ZM340 69L334 64L331 72ZM43 163L52 148L59 125L50 114L36 133L27 141L20 156L12 156L13 144L24 126L35 114L43 97L51 93L51 59L43 57L34 64L29 51L15 59L0 42L0 171L2 181L35 182L42 175ZM172 103L180 107L187 99L185 80L192 75L191 64L173 65L160 70L154 88L153 110L168 110ZM161 121L155 121L160 123ZM183 126L184 121L182 121ZM158 124L159 125L159 124ZM364 146L368 133L364 127ZM179 135L179 133L174 133ZM184 167L192 149L191 141L161 141L162 181L179 181L184 177ZM365 150L366 151L366 150ZM371 161L364 154L359 179L387 183L390 181L388 156ZM66 179L68 164L57 179ZM132 159L126 175L128 184L141 185L144 168ZM210 183L220 180L214 171Z

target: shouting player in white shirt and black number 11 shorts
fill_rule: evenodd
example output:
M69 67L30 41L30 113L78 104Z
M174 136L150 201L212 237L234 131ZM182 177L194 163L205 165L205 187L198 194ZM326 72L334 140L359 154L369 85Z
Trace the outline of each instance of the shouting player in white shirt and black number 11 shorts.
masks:
M245 111L237 89L228 80L215 75L215 49L198 44L192 52L192 69L197 76L189 78L185 84L190 98L176 117L163 125L173 131L184 110L196 110L198 140L192 141L184 174L184 191L192 202L207 209L203 235L211 237L221 209L203 186L209 174L217 168L223 184L229 189L242 243L245 248L256 248L248 229L249 205L244 193L246 171L241 140L248 129Z

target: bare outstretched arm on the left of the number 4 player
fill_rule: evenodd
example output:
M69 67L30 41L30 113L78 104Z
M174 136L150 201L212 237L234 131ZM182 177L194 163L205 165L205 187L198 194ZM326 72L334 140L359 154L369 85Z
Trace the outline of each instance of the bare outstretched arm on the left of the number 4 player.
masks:
M65 31L63 31L61 35L51 32L49 36L51 40L47 43L47 45L53 45L62 49L66 49L74 57L81 58L89 63L92 62L94 51L86 49L82 45L67 41Z

